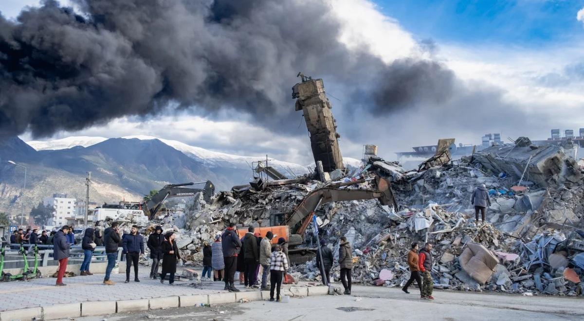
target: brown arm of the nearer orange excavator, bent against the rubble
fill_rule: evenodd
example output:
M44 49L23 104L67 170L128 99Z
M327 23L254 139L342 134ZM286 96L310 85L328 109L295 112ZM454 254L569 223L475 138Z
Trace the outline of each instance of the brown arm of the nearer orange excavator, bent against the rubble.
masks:
M340 186L347 186L350 184L362 183L365 180L357 180L349 183L341 183L334 187L322 187L314 190L304 197L294 210L287 215L285 224L290 226L290 231L294 231L294 227L303 222L298 228L296 234L303 235L308 226L307 219L312 218L312 214L321 204L336 202L336 201L353 201L353 200L372 200L377 198L382 205L390 205L396 210L398 204L395 201L394 193L391 189L391 183L388 179L376 176L377 189L370 190L352 190L340 189Z

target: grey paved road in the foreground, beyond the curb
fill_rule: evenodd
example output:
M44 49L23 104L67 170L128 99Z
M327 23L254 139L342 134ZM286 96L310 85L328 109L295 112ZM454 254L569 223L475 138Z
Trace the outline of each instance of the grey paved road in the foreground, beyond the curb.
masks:
M293 298L290 303L255 301L211 308L121 313L108 321L164 320L583 320L584 301L559 296L519 296L435 291L434 301L397 288L353 287L353 295ZM98 321L101 317L77 320Z

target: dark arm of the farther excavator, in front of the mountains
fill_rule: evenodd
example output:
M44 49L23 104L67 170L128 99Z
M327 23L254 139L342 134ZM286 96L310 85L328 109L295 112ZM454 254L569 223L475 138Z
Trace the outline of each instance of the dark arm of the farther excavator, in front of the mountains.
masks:
M189 189L182 186L192 186L194 184L201 184L205 183L203 189ZM158 193L154 194L150 200L144 204L142 204L142 211L144 214L152 219L154 215L157 214L158 210L160 210L162 203L167 198L172 197L180 197L180 196L194 196L196 193L203 193L203 200L207 203L210 203L211 197L215 194L215 186L211 183L210 180L207 182L200 182L200 183L183 183L183 184L169 184L162 187Z

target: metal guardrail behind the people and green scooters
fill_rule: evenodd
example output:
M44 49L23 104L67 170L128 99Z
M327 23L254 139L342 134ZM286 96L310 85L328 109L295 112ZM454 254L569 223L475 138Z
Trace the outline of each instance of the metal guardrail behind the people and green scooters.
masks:
M26 249L27 255L26 259L29 261L29 266L34 266L34 245L23 244ZM58 266L59 262L53 259L53 245L37 245L39 249L39 266ZM23 268L25 266L24 260L22 259L22 254L19 254L20 245L11 244L10 250L6 247L4 256L4 268ZM117 249L117 261L120 261L122 256L122 248ZM81 264L83 263L85 253L81 245L71 246L69 249L69 260L67 264ZM105 262L107 261L106 248L104 246L98 246L93 251L93 256L91 258L93 262Z

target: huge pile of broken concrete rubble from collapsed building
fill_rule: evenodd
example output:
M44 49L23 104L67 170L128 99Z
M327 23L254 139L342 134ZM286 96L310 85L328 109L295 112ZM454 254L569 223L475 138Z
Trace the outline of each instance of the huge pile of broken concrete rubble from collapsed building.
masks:
M423 246L428 241L434 244L434 287L584 295L582 173L559 147L533 146L522 139L517 145L493 146L424 170L405 170L398 162L371 158L356 174L333 172L325 181L349 182L373 173L391 177L399 205L395 210L377 200L339 201L315 212L319 236L333 248L335 258L340 236L352 244L357 282L401 287L409 278L406 256L411 243ZM141 232L147 236L155 225L174 231L183 263L198 265L203 242L211 242L228 222L273 225L274 213L287 214L308 193L330 183L306 176L258 180L222 191L209 204L195 197L184 212L159 215ZM371 189L372 183L365 180L343 188ZM471 204L481 184L491 197L485 223L475 221ZM309 225L304 247L317 247L314 234ZM333 270L333 279L339 281L338 265ZM293 266L290 273L321 280L314 259Z

